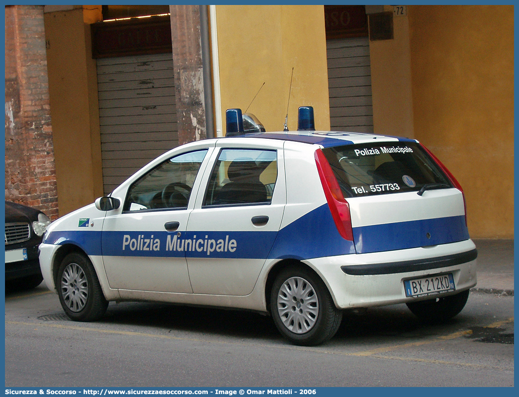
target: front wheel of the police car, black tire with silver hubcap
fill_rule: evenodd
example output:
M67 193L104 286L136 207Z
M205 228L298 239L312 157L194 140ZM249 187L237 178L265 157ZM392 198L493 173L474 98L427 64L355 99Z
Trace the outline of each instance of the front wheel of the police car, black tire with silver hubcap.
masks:
M63 259L56 288L61 306L71 320L95 321L106 312L108 301L92 263L83 254L71 253Z

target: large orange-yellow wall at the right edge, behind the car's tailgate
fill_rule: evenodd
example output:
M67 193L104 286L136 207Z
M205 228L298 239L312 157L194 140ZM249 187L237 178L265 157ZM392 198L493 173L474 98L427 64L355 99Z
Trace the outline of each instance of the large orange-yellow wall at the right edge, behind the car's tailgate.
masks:
M514 235L513 6L408 6L415 138L465 190L471 237Z

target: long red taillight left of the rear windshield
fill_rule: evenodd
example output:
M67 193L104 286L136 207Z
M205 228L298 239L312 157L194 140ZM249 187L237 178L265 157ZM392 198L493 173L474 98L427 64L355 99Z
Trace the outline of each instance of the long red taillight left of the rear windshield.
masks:
M353 241L350 206L344 200L337 178L335 178L332 168L321 149L316 150L315 157L319 178L321 178L324 195L330 207L335 226L343 239Z

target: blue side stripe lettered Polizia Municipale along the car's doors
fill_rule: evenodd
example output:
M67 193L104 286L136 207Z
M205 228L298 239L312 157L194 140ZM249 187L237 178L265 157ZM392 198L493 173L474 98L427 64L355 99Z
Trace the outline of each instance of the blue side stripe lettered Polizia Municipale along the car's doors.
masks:
M180 258L185 255L188 258L264 259L268 257L303 260L355 253L353 242L344 240L339 235L327 204L323 204L310 211L310 213L295 220L279 232L181 232L181 236L177 236L174 250L172 250L171 244L174 236L177 235L176 232L105 231L102 232L102 235L102 250L101 232L99 231L56 231L47 236L45 243L58 245L76 244L88 255L102 254L131 257ZM194 239L195 235L196 239ZM139 236L141 237L139 238ZM150 241L146 242L146 240ZM191 240L191 242L187 244L186 240ZM193 240L196 240L195 247L193 247ZM214 248L209 255L207 254L206 240L207 244ZM211 240L213 243L210 243ZM225 250L226 240L227 249ZM231 240L236 241L236 249L234 251L230 250L229 244ZM224 245L223 250L218 252L218 242L220 241ZM197 243L198 248L201 249L200 251L196 249ZM273 244L274 246L272 246ZM179 251L179 248L183 248L183 250ZM189 248L189 250L186 251L186 248Z

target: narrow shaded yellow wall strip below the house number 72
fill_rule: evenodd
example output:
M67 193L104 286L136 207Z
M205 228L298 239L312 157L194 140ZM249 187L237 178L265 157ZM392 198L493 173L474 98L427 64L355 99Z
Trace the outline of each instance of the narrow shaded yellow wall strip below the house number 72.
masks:
M377 134L413 138L407 16L393 16L393 37L392 40L370 42L373 129Z

